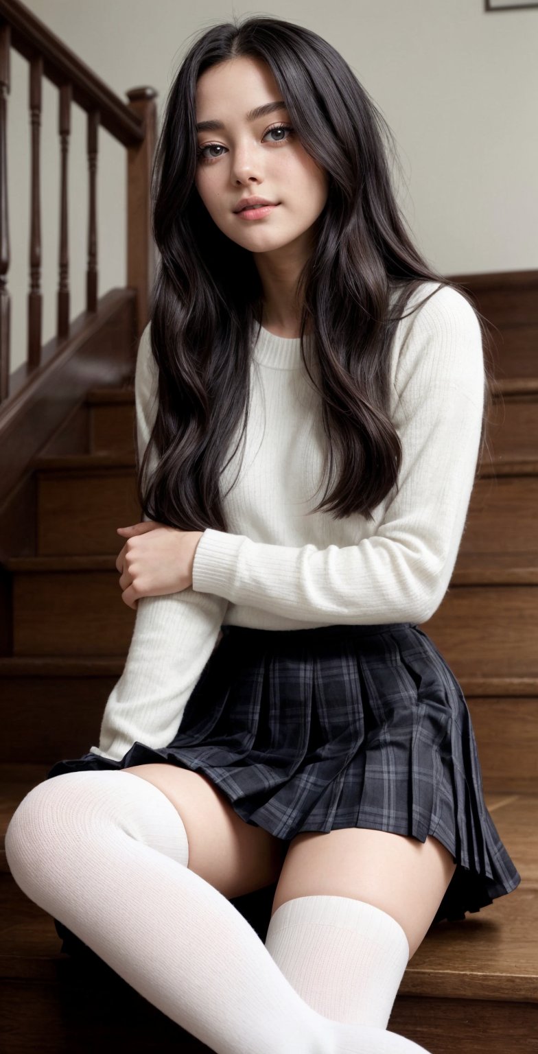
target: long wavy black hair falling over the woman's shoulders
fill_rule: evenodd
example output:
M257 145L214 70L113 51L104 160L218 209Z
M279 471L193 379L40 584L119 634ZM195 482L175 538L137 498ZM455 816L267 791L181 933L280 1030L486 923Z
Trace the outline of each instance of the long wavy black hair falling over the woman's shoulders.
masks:
M263 289L252 254L223 234L197 193L195 93L206 70L238 56L267 63L294 133L329 176L314 249L297 284L302 360L308 369L303 337L311 333L320 385L308 373L321 395L330 461L314 511L371 519L398 487L402 461L388 415L390 345L400 313L425 281L438 284L429 296L439 285L450 286L472 301L414 246L391 188L383 131L392 142L391 133L347 62L312 31L266 16L203 31L168 95L152 173L160 260L150 333L158 408L141 464L137 457L140 507L148 519L180 530L227 530L219 475L242 414L239 440L248 423ZM480 455L493 402L489 370L484 356ZM156 468L142 484L152 444Z

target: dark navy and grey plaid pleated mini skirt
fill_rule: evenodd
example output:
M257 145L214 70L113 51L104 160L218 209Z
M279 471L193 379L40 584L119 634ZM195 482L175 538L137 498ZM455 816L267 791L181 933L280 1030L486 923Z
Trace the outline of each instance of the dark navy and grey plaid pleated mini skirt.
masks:
M462 689L414 623L262 630L223 626L168 746L120 761L201 773L247 823L291 840L368 827L439 839L457 864L433 924L461 919L521 881L483 798Z

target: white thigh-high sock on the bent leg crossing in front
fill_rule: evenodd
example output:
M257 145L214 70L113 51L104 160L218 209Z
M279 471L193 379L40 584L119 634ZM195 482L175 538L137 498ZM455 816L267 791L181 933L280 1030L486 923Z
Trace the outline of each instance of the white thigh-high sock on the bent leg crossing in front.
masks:
M189 871L177 809L134 773L39 783L13 814L5 852L31 900L216 1054L424 1054L396 1032L312 1010L243 915Z

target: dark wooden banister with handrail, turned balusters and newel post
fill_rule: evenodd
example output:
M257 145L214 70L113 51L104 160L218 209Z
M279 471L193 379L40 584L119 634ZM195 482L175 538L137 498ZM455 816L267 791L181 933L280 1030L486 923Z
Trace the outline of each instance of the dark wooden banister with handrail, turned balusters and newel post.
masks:
M31 117L31 243L27 296L27 349L24 369L9 373L9 223L7 188L7 102L11 87L9 55L14 47L30 64L28 109ZM151 174L156 139L155 89L140 86L127 93L123 102L93 71L19 0L0 0L0 415L6 404L20 395L42 366L41 227L39 211L40 128L42 79L59 92L60 137L60 231L57 292L58 350L69 346L70 320L68 156L71 141L72 104L88 114L87 154L89 167L88 264L85 320L99 313L97 266L97 163L98 129L104 128L127 151L127 273L128 289L136 292L135 337L147 324L150 290L156 264L151 230Z

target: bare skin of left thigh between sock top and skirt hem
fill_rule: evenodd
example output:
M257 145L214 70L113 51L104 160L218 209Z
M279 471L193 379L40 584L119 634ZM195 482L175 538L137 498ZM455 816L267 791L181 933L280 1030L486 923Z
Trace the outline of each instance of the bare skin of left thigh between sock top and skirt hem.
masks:
M133 765L119 772L149 780L175 805L187 832L189 871L228 899L275 882L288 842L246 823L200 773L176 765Z

